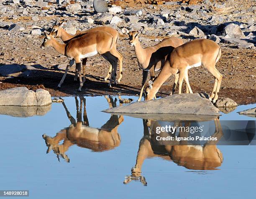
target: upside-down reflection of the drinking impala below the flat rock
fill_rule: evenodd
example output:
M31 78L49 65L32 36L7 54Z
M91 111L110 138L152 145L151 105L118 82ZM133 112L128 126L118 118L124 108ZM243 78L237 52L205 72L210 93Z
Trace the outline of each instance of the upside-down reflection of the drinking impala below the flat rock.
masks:
M219 119L214 120L215 132L212 138L216 141L208 141L203 146L189 145L187 141L170 141L167 144L158 145L155 143L156 134L151 131L156 127L161 127L156 120L143 119L144 136L142 137L136 165L131 169L131 175L126 176L124 184L128 184L132 180L140 180L143 185L146 185L145 177L141 176L141 167L145 159L151 157L161 157L163 159L173 161L179 166L186 167L187 169L195 170L214 170L219 167L223 162L223 156L216 144L223 136L222 128ZM174 126L182 126L182 123L174 123ZM190 123L185 122L184 127L189 127ZM162 136L167 132L161 132ZM160 135L161 135L160 134ZM189 132L179 131L179 137L188 137ZM169 134L168 134L169 135ZM175 139L174 139L175 140Z

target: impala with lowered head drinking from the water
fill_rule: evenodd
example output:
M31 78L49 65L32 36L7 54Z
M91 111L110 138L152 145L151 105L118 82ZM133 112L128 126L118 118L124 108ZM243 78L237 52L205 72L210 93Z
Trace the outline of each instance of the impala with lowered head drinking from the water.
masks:
M146 100L152 100L168 77L177 73L179 73L179 93L181 93L183 80L185 80L189 92L192 93L187 71L192 67L203 65L215 77L214 87L209 98L209 100L213 98L212 103L215 103L222 80L222 75L215 67L220 56L220 46L207 39L193 40L174 48L158 77L149 81L149 86L146 88Z

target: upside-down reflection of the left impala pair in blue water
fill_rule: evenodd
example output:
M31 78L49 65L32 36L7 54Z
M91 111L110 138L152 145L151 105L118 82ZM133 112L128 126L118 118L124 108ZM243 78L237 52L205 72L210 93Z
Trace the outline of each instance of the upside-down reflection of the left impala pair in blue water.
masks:
M86 113L86 101L84 97L80 98L80 107L77 97L77 121L72 117L68 111L64 102L62 102L64 109L66 110L67 117L69 118L71 125L65 129L62 129L56 134L55 137L49 137L46 134L43 138L48 147L49 153L53 149L54 153L64 158L69 162L69 157L65 154L69 147L73 144L77 144L79 147L91 149L94 152L102 152L118 147L120 144L120 135L118 134L118 126L123 122L123 116L111 115L110 119L101 128L89 127L89 121ZM108 100L110 107L116 106L113 98L105 97ZM83 121L82 121L82 105L84 106ZM63 144L59 144L61 140L64 140Z

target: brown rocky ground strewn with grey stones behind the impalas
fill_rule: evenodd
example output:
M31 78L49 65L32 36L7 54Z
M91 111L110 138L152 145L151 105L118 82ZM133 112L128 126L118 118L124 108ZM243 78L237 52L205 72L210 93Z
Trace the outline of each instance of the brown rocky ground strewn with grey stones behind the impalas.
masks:
M113 3L115 1L111 1ZM216 67L223 74L220 97L230 97L238 104L256 103L256 2L254 0L205 0L196 5L176 1L121 0L110 6L109 12L95 13L92 0L1 0L0 1L0 90L26 86L44 88L52 96L68 95L138 95L142 71L138 68L134 47L122 27L136 30L143 47L154 45L165 37L180 37L187 42L210 38L222 49ZM159 3L161 2L161 3ZM87 62L87 82L78 92L74 68L61 88L57 88L68 63L52 47L41 49L44 31L55 20L65 19L70 33L99 24L109 25L120 32L118 51L123 55L123 79L109 88L103 78L109 64L100 56ZM174 77L161 87L159 96L168 95ZM193 92L210 93L214 78L204 68L189 70Z

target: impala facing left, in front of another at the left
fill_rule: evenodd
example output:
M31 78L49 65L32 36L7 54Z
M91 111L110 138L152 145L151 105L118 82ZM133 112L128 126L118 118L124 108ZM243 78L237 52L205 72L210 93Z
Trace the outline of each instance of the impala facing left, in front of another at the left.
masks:
M92 57L97 54L100 54L112 65L112 74L109 86L111 86L111 83L113 81L114 83L116 83L115 78L118 59L110 52L110 50L113 48L113 43L114 37L109 33L103 31L95 31L78 35L76 38L70 40L70 42L68 42L67 44L60 44L53 36L45 33L44 42L41 47L54 47L54 49L61 55L65 55L68 57L68 59L70 60L70 66L74 64L74 61L76 62L76 68L79 72L80 81L79 91L81 91L81 88L85 81L85 79L82 80L81 75L81 59ZM68 71L69 67L66 68L66 71L58 87L60 87L63 83Z

